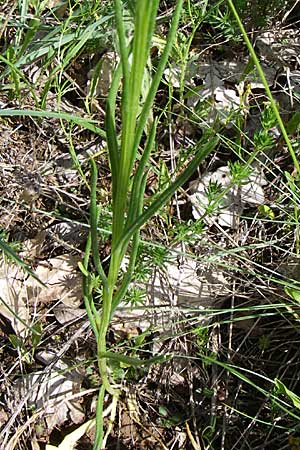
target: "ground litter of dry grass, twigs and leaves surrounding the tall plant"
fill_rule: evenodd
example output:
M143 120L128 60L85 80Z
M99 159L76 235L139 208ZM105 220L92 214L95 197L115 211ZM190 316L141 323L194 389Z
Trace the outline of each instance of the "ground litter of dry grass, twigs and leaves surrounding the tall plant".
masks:
M11 6L7 2L0 7L2 22ZM161 15L168 11L166 6ZM46 10L45 23L49 22L50 29L56 28L68 13L62 11L62 16L54 19ZM299 114L300 38L297 13L293 11L285 22L283 16L274 18L275 25L270 25L268 35L263 30L257 31L256 48L288 124L291 118L297 118L295 113ZM4 27L1 35L3 52L13 42L17 19L16 11L12 11L10 25ZM207 20L195 33L189 55L191 60L195 54L200 56L195 58L195 64L192 61L185 66L183 97L176 84L175 57L174 90L170 94L166 84L160 87L154 114L166 109L149 174L149 196L161 189L175 167L180 170L178 161L193 154L203 121L210 125L217 123L223 140L200 168L201 173L215 173L228 161L238 161L238 144L244 152L241 160L251 154L255 132L263 129L262 114L267 100L263 87L251 72L252 87L247 90L244 80L240 94L238 90L242 87L237 82L247 63L247 52L241 41L228 40L221 46L224 36L218 30L216 23ZM164 32L163 26L159 31ZM106 32L104 29L103 34ZM215 33L213 43L211 32ZM188 34L184 25L181 33ZM87 89L90 71L111 50L108 37L99 51L95 50L97 42L92 47L84 46L66 65L62 79L68 82L68 92L59 101L57 80L47 90L47 76L53 74L57 63L55 57L50 62L37 58L21 65L26 82L22 79L19 93L15 85L10 87L13 76L5 61L1 62L4 73L1 80L3 86L8 86L0 91L1 109L37 108L32 95L34 88L38 103L44 102L44 106L46 103L47 109L60 109L81 117L89 115L102 127L106 95L103 86L95 98L90 98L89 107L84 99L90 96ZM27 54L31 51L29 47ZM153 50L158 51L159 48ZM38 77L38 83L34 77ZM244 103L237 106L236 99L243 99ZM290 136L298 156L299 121L295 120ZM223 268L228 286L226 293L215 293L210 311L203 311L199 304L196 313L190 310L191 305L188 311L173 308L176 311L167 320L170 326L164 330L153 327L145 332L135 317L131 322L126 317L115 319L109 334L112 349L143 359L158 352L165 356L172 354L173 358L150 368L112 365L112 376L121 384L122 396L107 448L288 449L296 442L299 404L293 403L280 385L274 384L274 379L300 394L298 301L293 301L284 290L287 279L294 279L294 283L299 280L299 195L298 188L292 191L284 178L285 171L289 174L294 171L286 145L275 126L267 131L272 143L263 147L255 159L266 179L261 188L269 209L264 214L259 205L245 203L242 212L233 212L237 226L224 227L219 213L212 215L213 223L203 221L200 226L193 215L187 185L143 230L146 243L136 274L138 286L141 280L149 281L154 268L166 269L166 248L179 248L183 254L204 260L208 266ZM81 174L70 156L72 150L80 162ZM110 171L103 137L74 123L62 125L55 118L0 118L2 236L34 270L41 273L43 269L48 285L47 291L37 291L36 285L28 284L27 274L14 272L3 258L1 295L5 285L13 286L15 292L20 286L22 295L18 291L9 306L13 309L17 304L14 311L31 327L30 332L24 332L20 321L16 323L11 311L1 305L3 450L36 450L46 448L49 443L58 445L63 436L95 415L100 383L96 343L84 314L77 265L84 255L89 216L89 154L98 155L98 201L102 207L99 245L108 264ZM195 174L193 178L197 177ZM147 242L156 243L159 251L150 251ZM183 265L178 261L179 267ZM199 266L195 271L199 275ZM25 293L22 286L26 287ZM214 288L213 282L211 286ZM100 296L98 300L100 303ZM140 297L129 300L137 305ZM164 306L158 305L162 315L166 314ZM43 383L45 389L41 388ZM106 408L108 423L109 398ZM93 433L88 431L77 448L92 448Z

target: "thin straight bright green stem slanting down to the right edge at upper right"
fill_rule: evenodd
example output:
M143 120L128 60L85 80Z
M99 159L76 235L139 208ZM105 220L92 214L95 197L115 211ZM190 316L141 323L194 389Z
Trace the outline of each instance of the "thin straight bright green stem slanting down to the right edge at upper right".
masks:
M264 71L263 71L263 69L261 67L259 59L258 59L258 57L256 55L256 52L255 52L254 48L253 48L253 45L251 44L250 39L248 38L248 35L247 35L246 30L244 28L244 25L242 24L242 21L241 21L240 16L238 15L238 12L237 12L234 4L233 4L233 1L232 0L227 0L227 1L228 1L230 9L231 9L231 11L232 11L236 21L237 21L237 24L238 24L238 26L239 26L239 28L241 30L241 33L242 33L244 41L245 41L245 43L247 45L248 51L249 51L249 53L250 53L250 55L251 55L251 57L253 59L253 62L255 64L255 66L257 68L257 71L258 71L258 74L260 76L260 79L261 79L261 81L262 81L262 83L264 85L264 88L266 90L267 96L269 97L271 106L273 108L273 111L274 111L274 114L276 116L279 128L281 130L282 136L283 136L283 138L285 140L285 143L286 143L286 145L287 145L287 147L289 149L290 155L292 157L295 170L296 170L297 174L299 174L299 172L300 172L299 161L297 159L297 156L295 154L295 151L293 149L293 146L291 144L291 141L290 141L289 136L287 134L287 131L285 129L284 123L283 123L283 121L281 119L280 113L278 111L276 102L275 102L275 100L273 98L272 92L271 92L271 90L269 88L269 85L268 85L267 79L265 77Z

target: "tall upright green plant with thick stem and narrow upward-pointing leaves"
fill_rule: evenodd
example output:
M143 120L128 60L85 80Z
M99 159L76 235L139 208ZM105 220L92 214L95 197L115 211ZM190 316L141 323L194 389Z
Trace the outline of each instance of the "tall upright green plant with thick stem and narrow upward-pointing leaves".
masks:
M195 157L175 181L150 206L144 205L144 192L147 180L147 164L155 143L157 120L153 120L148 135L145 131L149 123L151 108L162 79L163 71L176 38L177 27L184 0L177 0L164 51L153 76L148 94L141 104L143 78L150 58L150 49L155 30L159 0L136 0L132 2L134 11L134 33L127 42L123 23L121 0L115 0L115 21L118 36L120 62L114 72L106 105L106 138L112 177L112 236L108 272L105 272L99 254L97 224L100 208L97 204L97 165L91 159L91 201L90 236L86 246L85 258L81 265L83 272L83 294L88 317L97 340L97 358L101 375L101 388L96 412L96 437L94 450L105 446L116 411L118 388L110 380L109 359L126 359L126 364L142 365L135 358L123 357L107 351L106 335L114 314L121 302L135 267L140 229L153 216L174 192L185 183L196 170L199 163L213 150L217 138L210 134L199 144ZM120 87L121 86L121 87ZM120 118L117 112L117 97L121 95ZM116 117L121 124L117 131ZM146 135L146 143L142 142ZM135 171L133 168L136 167ZM102 304L97 310L93 301L93 280L95 275L89 271L89 257L92 254L96 276L102 284ZM126 274L119 281L120 267L125 254L129 254ZM156 361L156 359L155 359ZM147 364L149 361L147 361ZM103 433L104 395L112 396L112 416L106 436Z

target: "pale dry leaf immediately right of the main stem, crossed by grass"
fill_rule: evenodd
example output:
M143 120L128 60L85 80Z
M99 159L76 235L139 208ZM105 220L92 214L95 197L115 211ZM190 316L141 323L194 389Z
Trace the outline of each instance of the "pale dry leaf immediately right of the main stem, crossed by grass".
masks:
M168 262L154 269L146 285L137 284L146 289L146 298L140 306L122 303L115 313L119 323L142 331L153 327L167 331L179 316L199 316L201 309L211 308L228 294L228 282L217 264L200 263L187 256L178 258L175 251L171 252Z

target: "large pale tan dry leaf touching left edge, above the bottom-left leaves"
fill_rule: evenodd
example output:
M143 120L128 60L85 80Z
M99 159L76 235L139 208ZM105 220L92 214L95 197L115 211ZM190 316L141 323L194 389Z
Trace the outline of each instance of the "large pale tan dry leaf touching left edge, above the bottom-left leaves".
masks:
M38 252L38 245L29 252ZM70 309L82 303L82 276L77 269L79 256L61 255L48 261L41 261L35 274L46 287L29 277L22 268L2 260L0 267L0 314L7 318L15 333L25 337L31 324L30 307L35 304L60 301L71 314ZM59 313L58 313L59 314ZM78 311L75 316L79 317ZM73 314L73 319L74 319Z

